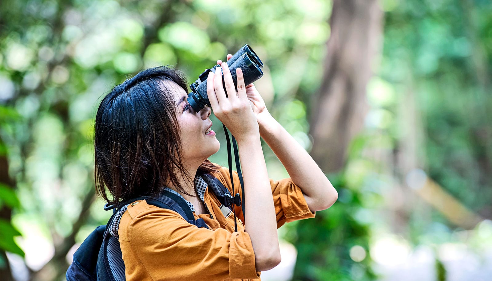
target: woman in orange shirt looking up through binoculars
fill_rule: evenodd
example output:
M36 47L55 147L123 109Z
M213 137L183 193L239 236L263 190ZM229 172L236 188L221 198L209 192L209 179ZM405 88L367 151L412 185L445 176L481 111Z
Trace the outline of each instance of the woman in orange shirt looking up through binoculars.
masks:
M254 85L246 87L241 69L236 93L227 63L217 63L221 71L209 73L207 94L215 116L237 140L248 198L246 216L235 207L237 232L234 215L207 190L201 177L214 175L232 193L228 169L207 160L220 146L211 131L211 109L191 109L181 72L166 67L144 70L117 85L99 106L98 194L119 203L170 190L184 197L195 219L203 219L210 228L191 225L178 213L145 200L129 204L117 214L119 223L115 220L111 226L119 237L126 280L258 279L261 271L280 262L277 227L312 218L337 200L330 181L270 115ZM291 178L268 178L260 137ZM234 189L241 194L235 171L234 177Z

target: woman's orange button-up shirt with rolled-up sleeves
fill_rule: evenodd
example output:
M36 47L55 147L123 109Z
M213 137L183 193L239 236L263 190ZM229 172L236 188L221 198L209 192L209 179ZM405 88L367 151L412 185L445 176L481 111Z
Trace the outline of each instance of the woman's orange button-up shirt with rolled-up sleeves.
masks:
M236 171L233 176L234 190L242 195ZM215 177L232 194L229 170L221 167ZM277 227L314 217L301 188L290 178L270 180L270 185ZM118 230L127 281L259 280L251 239L243 226L242 208L236 207L240 220L238 232L234 232L232 212L224 217L227 212L221 211L220 202L208 189L204 200L213 218L209 214L193 214L195 219L202 218L210 229L191 225L177 212L149 205L145 200L128 205Z

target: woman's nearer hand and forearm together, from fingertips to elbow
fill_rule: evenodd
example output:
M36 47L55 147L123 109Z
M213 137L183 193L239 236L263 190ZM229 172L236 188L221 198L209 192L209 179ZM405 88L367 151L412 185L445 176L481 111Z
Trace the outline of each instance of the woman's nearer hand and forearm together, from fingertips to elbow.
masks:
M227 97L222 87L224 73ZM269 270L280 262L275 204L270 188L265 156L261 149L258 121L246 95L241 68L236 70L238 94L227 63L209 73L207 94L215 116L229 128L238 141L239 158L243 168L246 200L245 225L253 246L256 271Z

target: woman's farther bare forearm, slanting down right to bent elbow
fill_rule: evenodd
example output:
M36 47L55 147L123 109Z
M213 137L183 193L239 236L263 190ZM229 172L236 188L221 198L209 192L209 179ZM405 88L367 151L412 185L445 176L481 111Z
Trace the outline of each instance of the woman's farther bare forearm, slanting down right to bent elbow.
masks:
M309 209L319 211L333 205L338 193L307 151L270 114L261 119L259 127L263 140L301 187Z

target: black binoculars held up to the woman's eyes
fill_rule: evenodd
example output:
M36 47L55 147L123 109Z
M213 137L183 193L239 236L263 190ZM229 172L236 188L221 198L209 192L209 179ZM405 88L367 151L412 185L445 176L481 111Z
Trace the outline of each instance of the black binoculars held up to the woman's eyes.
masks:
M243 70L245 85L249 85L263 76L263 71L261 71L263 62L261 62L260 58L247 44L241 47L241 49L239 49L239 51L227 61L227 65L231 70L232 80L234 81L236 91L238 87L236 77L237 68L241 68L241 70ZM195 112L201 111L205 106L211 107L209 97L207 95L207 77L209 72L212 71L215 73L217 67L220 68L220 65L217 64L212 68L206 69L202 74L200 74L200 76L198 76L198 79L193 84L189 85L191 93L188 94L187 101ZM225 88L223 74L222 84Z

